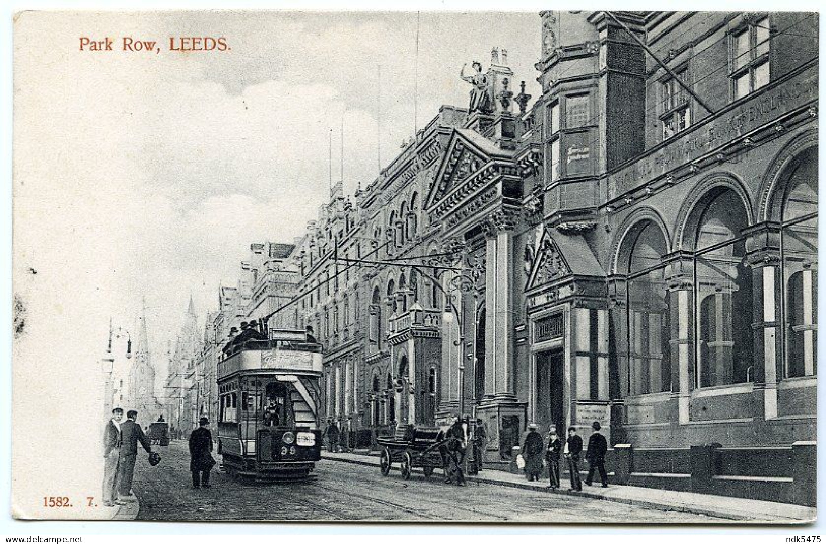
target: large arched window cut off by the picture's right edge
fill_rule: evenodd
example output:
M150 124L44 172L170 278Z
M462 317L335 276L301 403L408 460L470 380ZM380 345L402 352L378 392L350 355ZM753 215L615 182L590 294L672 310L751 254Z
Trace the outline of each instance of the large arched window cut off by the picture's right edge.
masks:
M786 319L786 377L817 374L818 151L790 165L783 197L781 248Z

